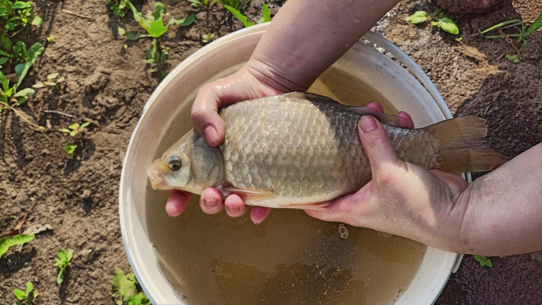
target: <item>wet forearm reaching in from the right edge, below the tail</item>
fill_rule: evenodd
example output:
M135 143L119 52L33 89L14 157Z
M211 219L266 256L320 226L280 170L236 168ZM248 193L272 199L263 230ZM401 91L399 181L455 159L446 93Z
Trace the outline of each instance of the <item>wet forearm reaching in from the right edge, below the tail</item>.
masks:
M458 245L499 256L542 250L542 143L464 190Z

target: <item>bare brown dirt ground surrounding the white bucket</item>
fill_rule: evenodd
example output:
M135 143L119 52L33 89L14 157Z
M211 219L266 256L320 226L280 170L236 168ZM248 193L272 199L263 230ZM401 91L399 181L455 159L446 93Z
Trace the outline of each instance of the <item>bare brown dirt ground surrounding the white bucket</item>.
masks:
M0 304L12 304L12 290L24 287L27 281L40 293L38 304L113 304L113 268L131 270L118 219L122 158L143 105L161 77L143 62L150 39L126 42L118 35L117 27L138 29L131 13L114 16L104 0L35 3L44 25L26 29L18 37L27 45L40 41L46 50L23 86L53 72L66 81L60 91L37 90L21 110L42 126L92 123L84 137L47 132L60 143L55 145L13 113L0 114L0 234L10 231L34 201L38 204L27 226L52 227L38 233L22 252L10 250L0 258ZM189 2L164 3L166 12L176 18L196 14L191 26L174 26L164 35L163 43L170 48L167 71L203 46L201 35L220 37L242 28L220 5L208 11L193 8ZM266 3L272 12L282 4ZM134 4L145 12L153 2L135 0ZM261 0L253 0L247 12L256 16L260 8ZM406 23L404 17L418 9L430 14L438 10L426 0L405 1L379 23L378 30L428 73L452 112L486 118L489 145L507 157L542 142L542 32L529 37L520 62L513 63L505 57L515 53L511 44L485 39L476 30L518 18L511 3L488 14L461 16L457 20L463 37L460 42L427 24ZM56 40L53 43L46 40L51 35ZM122 48L125 43L127 52ZM70 157L63 147L74 143L78 145L76 157ZM53 266L59 248L75 252L60 287ZM494 257L489 269L467 255L436 304L540 304L541 258L536 253Z

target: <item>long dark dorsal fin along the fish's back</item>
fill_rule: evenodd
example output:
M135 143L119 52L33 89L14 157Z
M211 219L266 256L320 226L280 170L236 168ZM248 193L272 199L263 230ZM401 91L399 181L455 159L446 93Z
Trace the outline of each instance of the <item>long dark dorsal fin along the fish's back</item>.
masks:
M314 101L317 103L322 103L322 104L332 104L334 107L338 107L345 111L356 113L357 115L360 115L360 116L366 116L366 115L373 116L377 118L380 121L380 123L384 123L384 124L388 124L392 126L408 126L409 125L408 120L406 120L403 117L388 115L388 113L367 110L366 107L344 105L332 98L320 96L319 94L315 94L315 93L291 92L291 93L283 94L283 96L288 97L288 98L307 99L307 100Z

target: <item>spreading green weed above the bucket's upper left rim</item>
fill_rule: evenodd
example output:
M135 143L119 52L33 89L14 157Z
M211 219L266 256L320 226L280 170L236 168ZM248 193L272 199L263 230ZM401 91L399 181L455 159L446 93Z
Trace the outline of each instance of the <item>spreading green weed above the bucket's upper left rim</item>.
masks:
M147 59L144 61L156 65L152 68L153 72L159 71L163 68L167 56L169 55L168 48L160 45L159 37L164 35L164 33L166 33L166 31L174 24L181 27L189 26L194 22L196 15L192 14L184 19L175 19L174 17L171 17L167 24L164 24L164 3L156 2L154 4L154 12L146 17L143 17L141 12L138 12L130 1L127 0L126 5L132 11L134 20L139 22L139 25L146 30L147 34L127 32L123 28L118 28L119 34L125 36L127 40L138 40L141 37L153 37L151 49L147 52ZM165 72L162 73L162 76L164 76L164 74Z

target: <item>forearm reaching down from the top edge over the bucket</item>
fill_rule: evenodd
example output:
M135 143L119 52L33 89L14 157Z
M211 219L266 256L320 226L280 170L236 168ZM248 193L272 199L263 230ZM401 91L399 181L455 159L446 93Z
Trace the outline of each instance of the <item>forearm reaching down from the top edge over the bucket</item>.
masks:
M248 68L267 85L305 91L398 2L290 0L273 18Z

